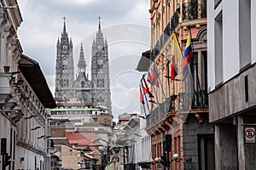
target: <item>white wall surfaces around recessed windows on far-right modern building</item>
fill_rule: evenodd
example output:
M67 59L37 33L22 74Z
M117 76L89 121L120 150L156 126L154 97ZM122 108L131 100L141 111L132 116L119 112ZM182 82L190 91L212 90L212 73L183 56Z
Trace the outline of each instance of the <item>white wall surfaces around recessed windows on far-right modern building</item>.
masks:
M256 2L251 1L251 29L252 29L252 63L256 61ZM254 8L253 8L254 7ZM235 77L240 71L240 49L239 49L239 1L222 0L214 9L214 1L207 1L207 51L208 51L208 87L212 91L216 85L214 63L214 21L219 12L222 11L223 19L223 82Z

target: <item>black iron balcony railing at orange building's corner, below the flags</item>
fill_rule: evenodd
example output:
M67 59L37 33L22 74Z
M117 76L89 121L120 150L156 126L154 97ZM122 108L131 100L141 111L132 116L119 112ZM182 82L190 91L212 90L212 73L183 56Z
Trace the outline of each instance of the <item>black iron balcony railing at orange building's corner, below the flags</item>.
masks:
M207 109L207 91L187 92L178 94L178 110Z

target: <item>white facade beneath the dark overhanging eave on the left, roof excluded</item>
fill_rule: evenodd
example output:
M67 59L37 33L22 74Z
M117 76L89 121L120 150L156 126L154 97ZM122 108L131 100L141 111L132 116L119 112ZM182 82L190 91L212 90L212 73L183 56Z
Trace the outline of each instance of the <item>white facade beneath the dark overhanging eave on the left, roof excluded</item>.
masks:
M17 157L18 160L23 157L20 153L25 153L25 156L24 161L20 161L20 164L19 161L16 161L18 163L16 167L31 167L34 165L33 168L38 167L41 170L43 169L43 165L44 168L48 168L44 164L47 162L44 161L44 158L49 158L48 147L50 133L47 120L48 112L40 102L40 99L34 94L26 79L22 75L19 78L23 80L20 92L26 96L26 99L20 99L20 108L24 116L17 122L16 142L18 147L16 152L17 156L20 156ZM46 139L46 137L48 138ZM32 162L37 162L37 164Z

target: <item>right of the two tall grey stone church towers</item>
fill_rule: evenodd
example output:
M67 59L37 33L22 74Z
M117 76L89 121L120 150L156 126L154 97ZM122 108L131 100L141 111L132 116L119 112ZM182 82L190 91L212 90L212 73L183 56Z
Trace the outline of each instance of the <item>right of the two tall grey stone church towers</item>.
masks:
M92 42L91 83L93 105L104 105L111 111L111 93L109 81L108 42L104 40L99 17L98 31Z

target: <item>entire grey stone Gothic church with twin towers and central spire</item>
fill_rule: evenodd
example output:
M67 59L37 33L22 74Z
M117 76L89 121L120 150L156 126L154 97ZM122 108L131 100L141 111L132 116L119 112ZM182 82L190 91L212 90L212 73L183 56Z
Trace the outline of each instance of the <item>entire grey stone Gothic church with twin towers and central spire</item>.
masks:
M111 112L111 93L108 64L108 42L103 37L99 21L96 38L92 42L91 51L91 80L86 73L87 63L84 59L84 49L81 43L78 74L74 72L73 42L68 37L64 20L61 38L58 39L55 65L55 98L62 105L69 103L83 104L86 107L103 107ZM77 76L75 76L77 75Z

